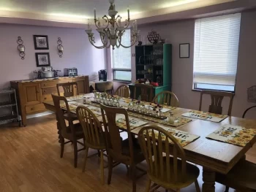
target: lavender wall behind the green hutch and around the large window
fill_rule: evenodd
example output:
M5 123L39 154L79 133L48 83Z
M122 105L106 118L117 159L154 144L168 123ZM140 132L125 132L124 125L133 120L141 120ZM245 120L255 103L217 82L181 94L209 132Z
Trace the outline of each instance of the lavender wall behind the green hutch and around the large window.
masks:
M256 85L256 12L243 12L241 17L241 35L238 53L238 72L236 96L233 101L232 115L241 117L246 108L253 104L246 100L246 89ZM146 36L151 29L156 30L163 39L173 45L173 93L178 96L180 107L198 110L200 93L192 91L193 53L195 20L139 26L140 34ZM179 44L190 43L190 58L179 58ZM135 53L135 47L132 47ZM132 58L132 82L135 81L135 58ZM115 83L115 88L121 83ZM206 96L203 110L208 110L210 98ZM228 99L223 100L223 112L227 113ZM248 113L247 118L256 118L256 109Z

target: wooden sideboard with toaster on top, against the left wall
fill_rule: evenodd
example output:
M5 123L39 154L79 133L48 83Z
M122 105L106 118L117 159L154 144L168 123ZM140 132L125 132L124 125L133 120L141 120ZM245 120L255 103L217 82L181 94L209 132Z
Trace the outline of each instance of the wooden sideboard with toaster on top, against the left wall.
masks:
M80 93L90 93L89 76L59 77L50 80L20 80L11 81L18 97L18 109L23 126L27 125L26 115L45 112L43 101L52 101L51 93L57 93L57 84L63 82L78 82Z

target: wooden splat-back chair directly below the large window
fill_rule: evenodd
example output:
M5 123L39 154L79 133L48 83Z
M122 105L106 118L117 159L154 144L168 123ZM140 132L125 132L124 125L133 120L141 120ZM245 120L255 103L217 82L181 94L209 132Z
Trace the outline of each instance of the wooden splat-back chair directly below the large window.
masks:
M204 94L211 95L211 105L209 106L208 112L213 112L220 115L222 114L222 99L225 96L229 97L230 104L228 107L227 115L229 116L231 115L234 93L224 92L224 91L201 91L199 110L202 109L202 101L203 101Z

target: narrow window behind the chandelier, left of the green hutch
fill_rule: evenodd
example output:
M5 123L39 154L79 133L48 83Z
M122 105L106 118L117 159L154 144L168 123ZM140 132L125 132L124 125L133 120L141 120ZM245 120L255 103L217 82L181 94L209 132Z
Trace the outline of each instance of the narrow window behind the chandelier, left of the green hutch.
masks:
M121 39L122 45L129 46L131 44L130 29L125 30ZM111 50L113 80L131 81L131 48L119 47Z

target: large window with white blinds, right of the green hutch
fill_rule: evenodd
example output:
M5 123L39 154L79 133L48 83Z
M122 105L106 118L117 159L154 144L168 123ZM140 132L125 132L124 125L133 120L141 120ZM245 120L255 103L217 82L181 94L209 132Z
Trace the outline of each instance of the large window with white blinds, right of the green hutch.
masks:
M235 91L241 13L195 20L194 88Z

